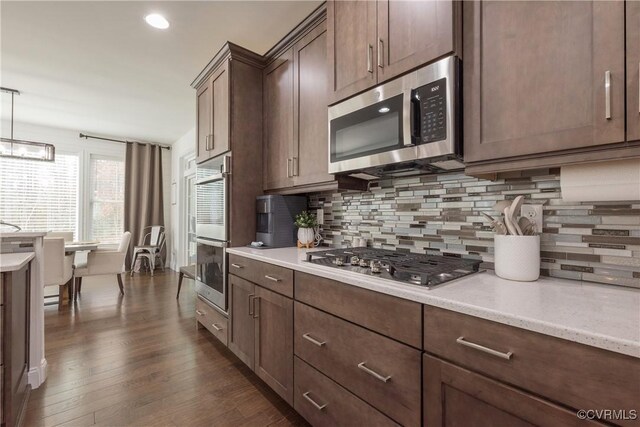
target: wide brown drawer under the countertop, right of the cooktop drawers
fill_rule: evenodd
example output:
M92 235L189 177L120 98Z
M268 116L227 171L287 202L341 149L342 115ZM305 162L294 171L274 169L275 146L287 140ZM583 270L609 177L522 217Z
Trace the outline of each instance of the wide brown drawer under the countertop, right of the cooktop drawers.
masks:
M424 348L575 409L638 409L640 361L630 356L430 306Z

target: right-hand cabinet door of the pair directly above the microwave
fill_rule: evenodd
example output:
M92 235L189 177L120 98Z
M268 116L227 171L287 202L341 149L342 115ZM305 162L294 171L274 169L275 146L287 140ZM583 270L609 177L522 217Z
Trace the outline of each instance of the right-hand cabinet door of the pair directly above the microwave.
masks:
M453 0L379 0L377 12L378 83L454 51Z

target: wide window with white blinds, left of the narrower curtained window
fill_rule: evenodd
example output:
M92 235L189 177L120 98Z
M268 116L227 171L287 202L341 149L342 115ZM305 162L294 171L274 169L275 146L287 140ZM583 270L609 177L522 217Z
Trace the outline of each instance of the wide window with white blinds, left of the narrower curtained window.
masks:
M0 158L0 219L77 239L79 165L73 154L56 153L55 162Z

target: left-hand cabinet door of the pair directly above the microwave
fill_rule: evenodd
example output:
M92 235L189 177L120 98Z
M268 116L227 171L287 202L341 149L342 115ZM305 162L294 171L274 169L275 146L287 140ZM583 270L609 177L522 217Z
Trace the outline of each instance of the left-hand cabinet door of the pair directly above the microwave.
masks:
M375 1L329 1L327 38L330 103L376 84Z

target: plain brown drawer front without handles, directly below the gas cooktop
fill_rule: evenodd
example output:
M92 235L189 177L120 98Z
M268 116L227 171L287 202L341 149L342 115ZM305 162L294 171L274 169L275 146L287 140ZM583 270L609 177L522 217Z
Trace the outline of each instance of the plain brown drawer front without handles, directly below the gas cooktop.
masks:
M422 348L422 306L416 302L296 271L296 300Z

